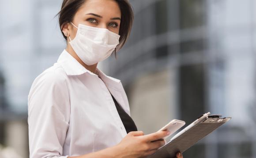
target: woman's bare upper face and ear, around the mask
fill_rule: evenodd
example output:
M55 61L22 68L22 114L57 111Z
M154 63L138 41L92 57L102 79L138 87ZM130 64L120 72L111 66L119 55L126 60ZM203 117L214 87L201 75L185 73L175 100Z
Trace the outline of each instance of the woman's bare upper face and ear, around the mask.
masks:
M85 3L76 12L73 24L88 25L104 28L114 33L119 33L121 11L115 0L85 0ZM75 38L77 29L69 24L71 39Z

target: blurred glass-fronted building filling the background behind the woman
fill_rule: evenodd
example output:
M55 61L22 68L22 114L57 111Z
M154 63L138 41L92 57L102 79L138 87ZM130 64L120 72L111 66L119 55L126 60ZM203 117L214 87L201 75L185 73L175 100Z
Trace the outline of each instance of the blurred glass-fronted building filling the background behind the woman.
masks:
M233 118L184 158L256 158L256 1L130 1L131 36L99 68L122 81L138 129L211 111ZM65 48L61 2L0 1L0 144L22 158L30 86Z

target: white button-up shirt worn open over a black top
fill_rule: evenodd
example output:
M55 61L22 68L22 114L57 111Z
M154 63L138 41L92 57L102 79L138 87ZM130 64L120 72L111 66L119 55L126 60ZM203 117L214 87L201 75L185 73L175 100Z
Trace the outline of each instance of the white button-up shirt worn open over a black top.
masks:
M64 50L28 95L30 158L67 158L112 147L127 135L111 94L130 115L122 83L84 68Z

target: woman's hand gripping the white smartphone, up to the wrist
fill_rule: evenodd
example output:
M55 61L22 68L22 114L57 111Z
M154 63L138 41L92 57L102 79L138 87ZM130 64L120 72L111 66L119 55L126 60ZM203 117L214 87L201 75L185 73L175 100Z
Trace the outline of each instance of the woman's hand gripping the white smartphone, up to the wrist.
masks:
M142 131L129 132L117 145L122 151L120 152L120 158L147 157L166 144L165 140L159 139L167 135L169 135L169 131L159 131L148 135L144 135ZM177 158L182 158L182 155Z

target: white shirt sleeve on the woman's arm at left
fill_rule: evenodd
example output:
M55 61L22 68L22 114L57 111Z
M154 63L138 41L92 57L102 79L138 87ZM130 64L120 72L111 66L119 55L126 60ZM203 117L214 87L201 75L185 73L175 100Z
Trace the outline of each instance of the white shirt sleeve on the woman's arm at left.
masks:
M30 158L68 157L62 155L70 117L65 77L57 69L46 71L31 86L28 95Z

